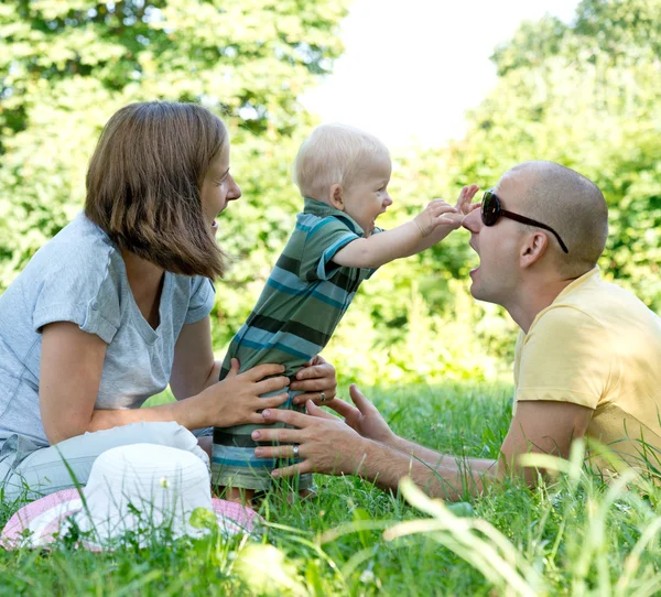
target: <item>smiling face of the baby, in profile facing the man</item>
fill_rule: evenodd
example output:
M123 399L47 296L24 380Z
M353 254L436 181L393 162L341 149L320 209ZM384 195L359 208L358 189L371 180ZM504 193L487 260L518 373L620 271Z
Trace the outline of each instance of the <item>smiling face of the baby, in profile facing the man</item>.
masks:
M390 160L375 161L345 188L345 211L365 230L366 238L372 234L376 219L392 205L388 194L390 173Z

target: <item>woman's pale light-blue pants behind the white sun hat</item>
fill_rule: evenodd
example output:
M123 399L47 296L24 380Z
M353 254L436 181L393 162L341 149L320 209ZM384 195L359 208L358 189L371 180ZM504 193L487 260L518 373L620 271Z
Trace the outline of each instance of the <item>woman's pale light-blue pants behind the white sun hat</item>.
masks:
M209 466L209 458L198 445L196 435L210 434L198 430L195 435L174 422L131 423L111 430L85 433L40 447L21 435L12 435L0 448L0 488L3 500L36 499L61 489L86 485L93 463L107 449L129 444L160 444L192 452ZM2 495L2 493L0 493Z

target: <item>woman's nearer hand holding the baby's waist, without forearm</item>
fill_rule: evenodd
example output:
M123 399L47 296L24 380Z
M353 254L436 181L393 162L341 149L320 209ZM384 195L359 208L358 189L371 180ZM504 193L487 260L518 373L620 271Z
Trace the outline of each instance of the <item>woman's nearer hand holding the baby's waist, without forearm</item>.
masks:
M195 421L188 428L264 423L264 417L258 411L277 409L286 402L288 392L270 398L259 397L288 387L289 379L284 376L269 377L283 371L282 365L258 365L239 373L238 359L231 359L231 369L223 381L214 383L196 397L180 402L187 402L187 410L195 404L195 412L191 413ZM263 379L266 377L269 379Z

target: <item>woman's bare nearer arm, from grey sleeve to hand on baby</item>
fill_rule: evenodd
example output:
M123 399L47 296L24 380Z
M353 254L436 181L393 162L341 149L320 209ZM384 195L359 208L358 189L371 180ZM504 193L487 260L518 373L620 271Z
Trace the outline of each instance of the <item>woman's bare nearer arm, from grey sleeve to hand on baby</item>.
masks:
M40 409L48 442L138 422L175 421L189 430L262 423L257 411L275 409L288 394L261 399L261 394L285 388L280 365L260 365L241 375L238 362L228 378L191 398L171 404L136 410L95 410L106 344L76 324L57 322L44 326L40 372ZM127 375L130 376L130 371Z

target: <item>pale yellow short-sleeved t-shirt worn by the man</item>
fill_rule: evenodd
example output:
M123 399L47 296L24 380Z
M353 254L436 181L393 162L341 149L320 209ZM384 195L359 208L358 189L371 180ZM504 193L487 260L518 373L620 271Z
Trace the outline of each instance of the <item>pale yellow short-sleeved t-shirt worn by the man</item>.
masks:
M521 332L518 401L552 400L594 410L588 437L630 464L661 462L661 318L598 268L566 289Z

